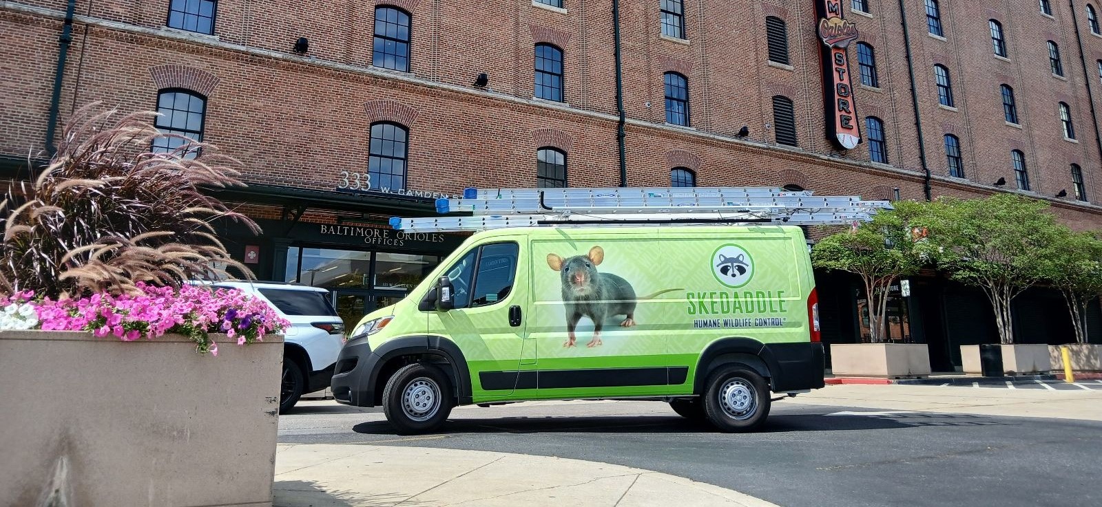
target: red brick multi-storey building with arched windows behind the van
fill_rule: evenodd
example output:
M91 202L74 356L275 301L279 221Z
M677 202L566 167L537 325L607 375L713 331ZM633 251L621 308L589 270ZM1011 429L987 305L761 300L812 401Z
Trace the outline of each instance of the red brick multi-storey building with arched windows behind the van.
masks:
M244 161L249 188L223 197L264 235L227 230L235 252L261 278L333 288L349 319L457 241L380 219L468 186L1019 191L1100 225L1102 3L818 1L844 21L820 30L815 2L787 0L4 1L0 166L25 178L89 101L159 109ZM843 65L824 71L821 33L849 43ZM839 67L846 87L824 87ZM833 141L843 115L852 148ZM857 340L856 286L820 285L827 340ZM894 338L931 343L936 368L994 335L977 293L914 286ZM1022 301L1023 341L1067 340L1061 301Z

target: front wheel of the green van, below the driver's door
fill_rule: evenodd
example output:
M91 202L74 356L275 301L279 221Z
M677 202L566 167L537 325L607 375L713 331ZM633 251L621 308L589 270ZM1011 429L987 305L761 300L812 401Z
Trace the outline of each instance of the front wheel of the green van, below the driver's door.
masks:
M452 412L447 375L422 363L402 366L382 390L382 411L400 434L424 433L440 428Z

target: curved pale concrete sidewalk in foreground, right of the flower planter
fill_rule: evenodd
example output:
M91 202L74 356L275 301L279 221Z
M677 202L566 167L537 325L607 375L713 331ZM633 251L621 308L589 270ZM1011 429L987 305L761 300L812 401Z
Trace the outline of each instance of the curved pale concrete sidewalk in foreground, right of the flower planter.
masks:
M400 440L425 438L432 437ZM274 507L776 507L731 489L628 466L361 444L279 444L273 492Z

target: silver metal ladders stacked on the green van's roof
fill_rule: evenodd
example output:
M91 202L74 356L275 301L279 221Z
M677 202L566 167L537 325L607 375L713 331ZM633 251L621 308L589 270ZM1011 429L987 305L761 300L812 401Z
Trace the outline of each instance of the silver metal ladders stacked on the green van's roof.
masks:
M467 188L462 199L437 199L440 213L469 217L390 219L403 232L460 232L519 227L639 224L851 224L888 201L817 197L770 187Z

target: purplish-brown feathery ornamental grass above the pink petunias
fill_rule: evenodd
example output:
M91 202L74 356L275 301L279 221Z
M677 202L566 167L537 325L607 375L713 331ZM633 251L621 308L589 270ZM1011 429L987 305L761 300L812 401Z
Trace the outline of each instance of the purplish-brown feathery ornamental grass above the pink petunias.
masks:
M251 272L215 238L212 222L229 219L260 232L199 187L244 186L209 144L152 125L154 112L73 114L50 164L28 186L12 185L0 202L0 293L39 297L114 297L148 286L180 288L188 279L225 276L216 265ZM183 139L153 152L155 139Z

